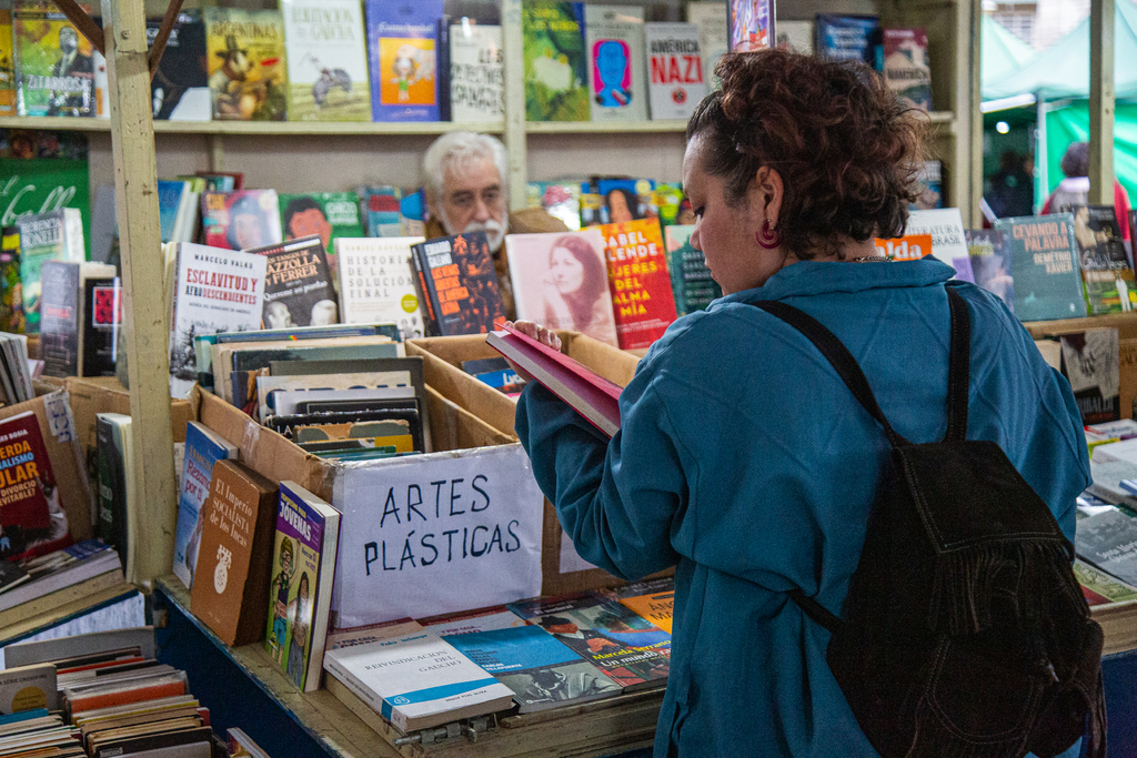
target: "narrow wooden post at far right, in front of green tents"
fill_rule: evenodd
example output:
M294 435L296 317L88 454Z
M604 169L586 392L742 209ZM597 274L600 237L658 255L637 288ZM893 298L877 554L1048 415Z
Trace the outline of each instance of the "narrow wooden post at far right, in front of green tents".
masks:
M1089 3L1089 201L1113 205L1113 22L1115 0Z

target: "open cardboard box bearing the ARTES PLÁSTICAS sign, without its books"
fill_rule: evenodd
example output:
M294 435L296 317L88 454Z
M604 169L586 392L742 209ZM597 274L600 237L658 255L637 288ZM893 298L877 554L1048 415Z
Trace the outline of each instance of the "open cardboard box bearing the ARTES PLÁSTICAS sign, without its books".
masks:
M243 464L342 513L333 628L541 591L543 499L520 443L432 388L424 394L433 452L333 461L196 391L199 420Z

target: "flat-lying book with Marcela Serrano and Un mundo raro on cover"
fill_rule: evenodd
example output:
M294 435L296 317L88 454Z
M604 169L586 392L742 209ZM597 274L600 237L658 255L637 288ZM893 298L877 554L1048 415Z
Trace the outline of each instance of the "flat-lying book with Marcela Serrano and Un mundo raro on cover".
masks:
M592 663L625 692L666 684L671 635L619 602L587 592L521 600L508 608Z

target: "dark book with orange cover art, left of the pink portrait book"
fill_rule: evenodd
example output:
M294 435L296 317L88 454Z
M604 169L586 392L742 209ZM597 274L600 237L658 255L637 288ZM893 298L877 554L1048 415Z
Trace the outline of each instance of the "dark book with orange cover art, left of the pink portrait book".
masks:
M485 232L429 240L410 249L432 334L485 334L505 318Z

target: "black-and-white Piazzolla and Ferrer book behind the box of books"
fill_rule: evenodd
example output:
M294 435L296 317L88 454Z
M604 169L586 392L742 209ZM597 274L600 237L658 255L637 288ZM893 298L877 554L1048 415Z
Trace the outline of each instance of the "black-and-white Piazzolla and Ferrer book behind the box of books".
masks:
M319 235L254 248L264 256L266 328L327 326L339 323L339 306L324 242Z

